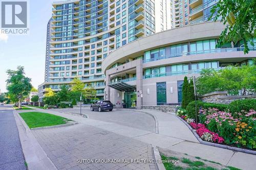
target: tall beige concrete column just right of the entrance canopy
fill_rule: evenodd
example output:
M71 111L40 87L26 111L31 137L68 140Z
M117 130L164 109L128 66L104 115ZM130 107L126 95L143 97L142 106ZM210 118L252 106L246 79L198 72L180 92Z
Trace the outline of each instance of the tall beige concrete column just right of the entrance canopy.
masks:
M136 95L137 95L137 106L136 109L141 109L142 98L141 92L143 91L143 67L142 59L136 60Z

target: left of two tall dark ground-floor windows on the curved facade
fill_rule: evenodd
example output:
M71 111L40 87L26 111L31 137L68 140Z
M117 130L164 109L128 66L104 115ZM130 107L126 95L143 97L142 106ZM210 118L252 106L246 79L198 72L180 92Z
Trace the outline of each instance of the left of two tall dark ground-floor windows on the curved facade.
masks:
M157 105L166 104L166 82L157 83Z

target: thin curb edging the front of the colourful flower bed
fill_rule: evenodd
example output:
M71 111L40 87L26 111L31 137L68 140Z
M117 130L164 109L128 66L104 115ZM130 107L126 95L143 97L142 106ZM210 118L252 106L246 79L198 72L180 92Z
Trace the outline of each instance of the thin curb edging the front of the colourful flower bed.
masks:
M176 115L177 116L177 115ZM188 128L189 130L196 136L197 140L205 145L209 145L212 147L218 147L218 148L223 148L223 149L228 149L228 150L232 150L232 151L238 151L238 152L243 152L246 154L253 154L256 155L256 151L251 151L251 150L246 150L246 149L242 149L242 148L236 148L236 147L229 147L228 145L224 145L224 144L219 144L219 143L212 143L212 142L207 142L202 140L198 134L197 131L195 129L192 129L190 125L188 125L188 123L185 122L185 120L183 120L180 116L177 116Z

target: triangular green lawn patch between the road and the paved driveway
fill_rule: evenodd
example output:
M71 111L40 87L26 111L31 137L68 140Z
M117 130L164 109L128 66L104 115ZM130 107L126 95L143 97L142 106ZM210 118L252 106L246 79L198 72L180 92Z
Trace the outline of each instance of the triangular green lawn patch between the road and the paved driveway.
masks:
M69 119L56 116L54 114L42 113L42 112L24 112L19 113L20 116L24 119L28 127L38 128L54 125L66 124Z

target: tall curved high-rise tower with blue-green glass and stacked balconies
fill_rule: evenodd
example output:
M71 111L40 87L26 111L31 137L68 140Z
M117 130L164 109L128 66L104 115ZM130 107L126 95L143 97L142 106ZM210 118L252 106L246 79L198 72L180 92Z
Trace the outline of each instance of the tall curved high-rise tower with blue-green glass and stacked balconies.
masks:
M59 90L78 77L104 96L102 60L141 37L170 29L170 0L70 0L53 3L48 23L45 82ZM122 64L122 63L120 63Z

